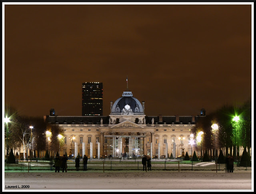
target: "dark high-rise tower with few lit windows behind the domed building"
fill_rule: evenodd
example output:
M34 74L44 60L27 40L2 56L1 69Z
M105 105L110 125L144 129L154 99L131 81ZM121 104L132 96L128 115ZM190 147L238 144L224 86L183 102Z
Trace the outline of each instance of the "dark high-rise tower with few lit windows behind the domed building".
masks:
M103 84L82 83L82 116L103 115Z

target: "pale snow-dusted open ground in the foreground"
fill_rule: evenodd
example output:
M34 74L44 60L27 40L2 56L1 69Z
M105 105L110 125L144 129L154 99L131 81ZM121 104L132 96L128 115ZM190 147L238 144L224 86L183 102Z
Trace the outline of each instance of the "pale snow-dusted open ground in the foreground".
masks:
M4 190L16 185L29 185L26 190L251 190L252 171L5 172Z

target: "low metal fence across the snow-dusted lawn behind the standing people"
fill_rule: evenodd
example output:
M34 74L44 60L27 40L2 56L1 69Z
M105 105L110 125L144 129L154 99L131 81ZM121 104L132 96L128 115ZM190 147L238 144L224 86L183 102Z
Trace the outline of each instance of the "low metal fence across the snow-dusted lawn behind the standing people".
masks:
M20 161L16 164L5 164L5 171L21 170L28 172L30 170L54 170L53 161ZM75 162L68 160L67 170L76 170ZM234 170L239 167L239 161L235 162ZM83 161L80 160L80 170L83 170ZM142 170L143 164L141 159L136 160L117 160L102 159L88 160L87 170ZM151 160L152 170L209 170L215 171L226 170L226 164L216 164L215 162L193 162L189 160ZM239 167L240 170L247 170L247 167ZM61 170L62 171L62 170Z

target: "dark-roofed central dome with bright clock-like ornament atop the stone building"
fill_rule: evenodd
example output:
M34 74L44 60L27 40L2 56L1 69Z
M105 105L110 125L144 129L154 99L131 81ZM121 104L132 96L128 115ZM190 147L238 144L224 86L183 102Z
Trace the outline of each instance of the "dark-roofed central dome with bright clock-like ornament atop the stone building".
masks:
M114 102L110 115L128 115L128 112L125 110L130 110L129 114L144 115L144 110L140 101L133 97L132 92L129 91L129 89L126 89L122 97Z

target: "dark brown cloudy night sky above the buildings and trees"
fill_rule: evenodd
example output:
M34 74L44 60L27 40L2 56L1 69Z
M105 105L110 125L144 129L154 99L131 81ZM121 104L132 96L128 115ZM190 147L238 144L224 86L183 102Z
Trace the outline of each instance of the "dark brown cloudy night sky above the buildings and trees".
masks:
M128 88L148 116L206 114L252 94L251 5L5 5L5 103L82 115L82 83L103 113Z

